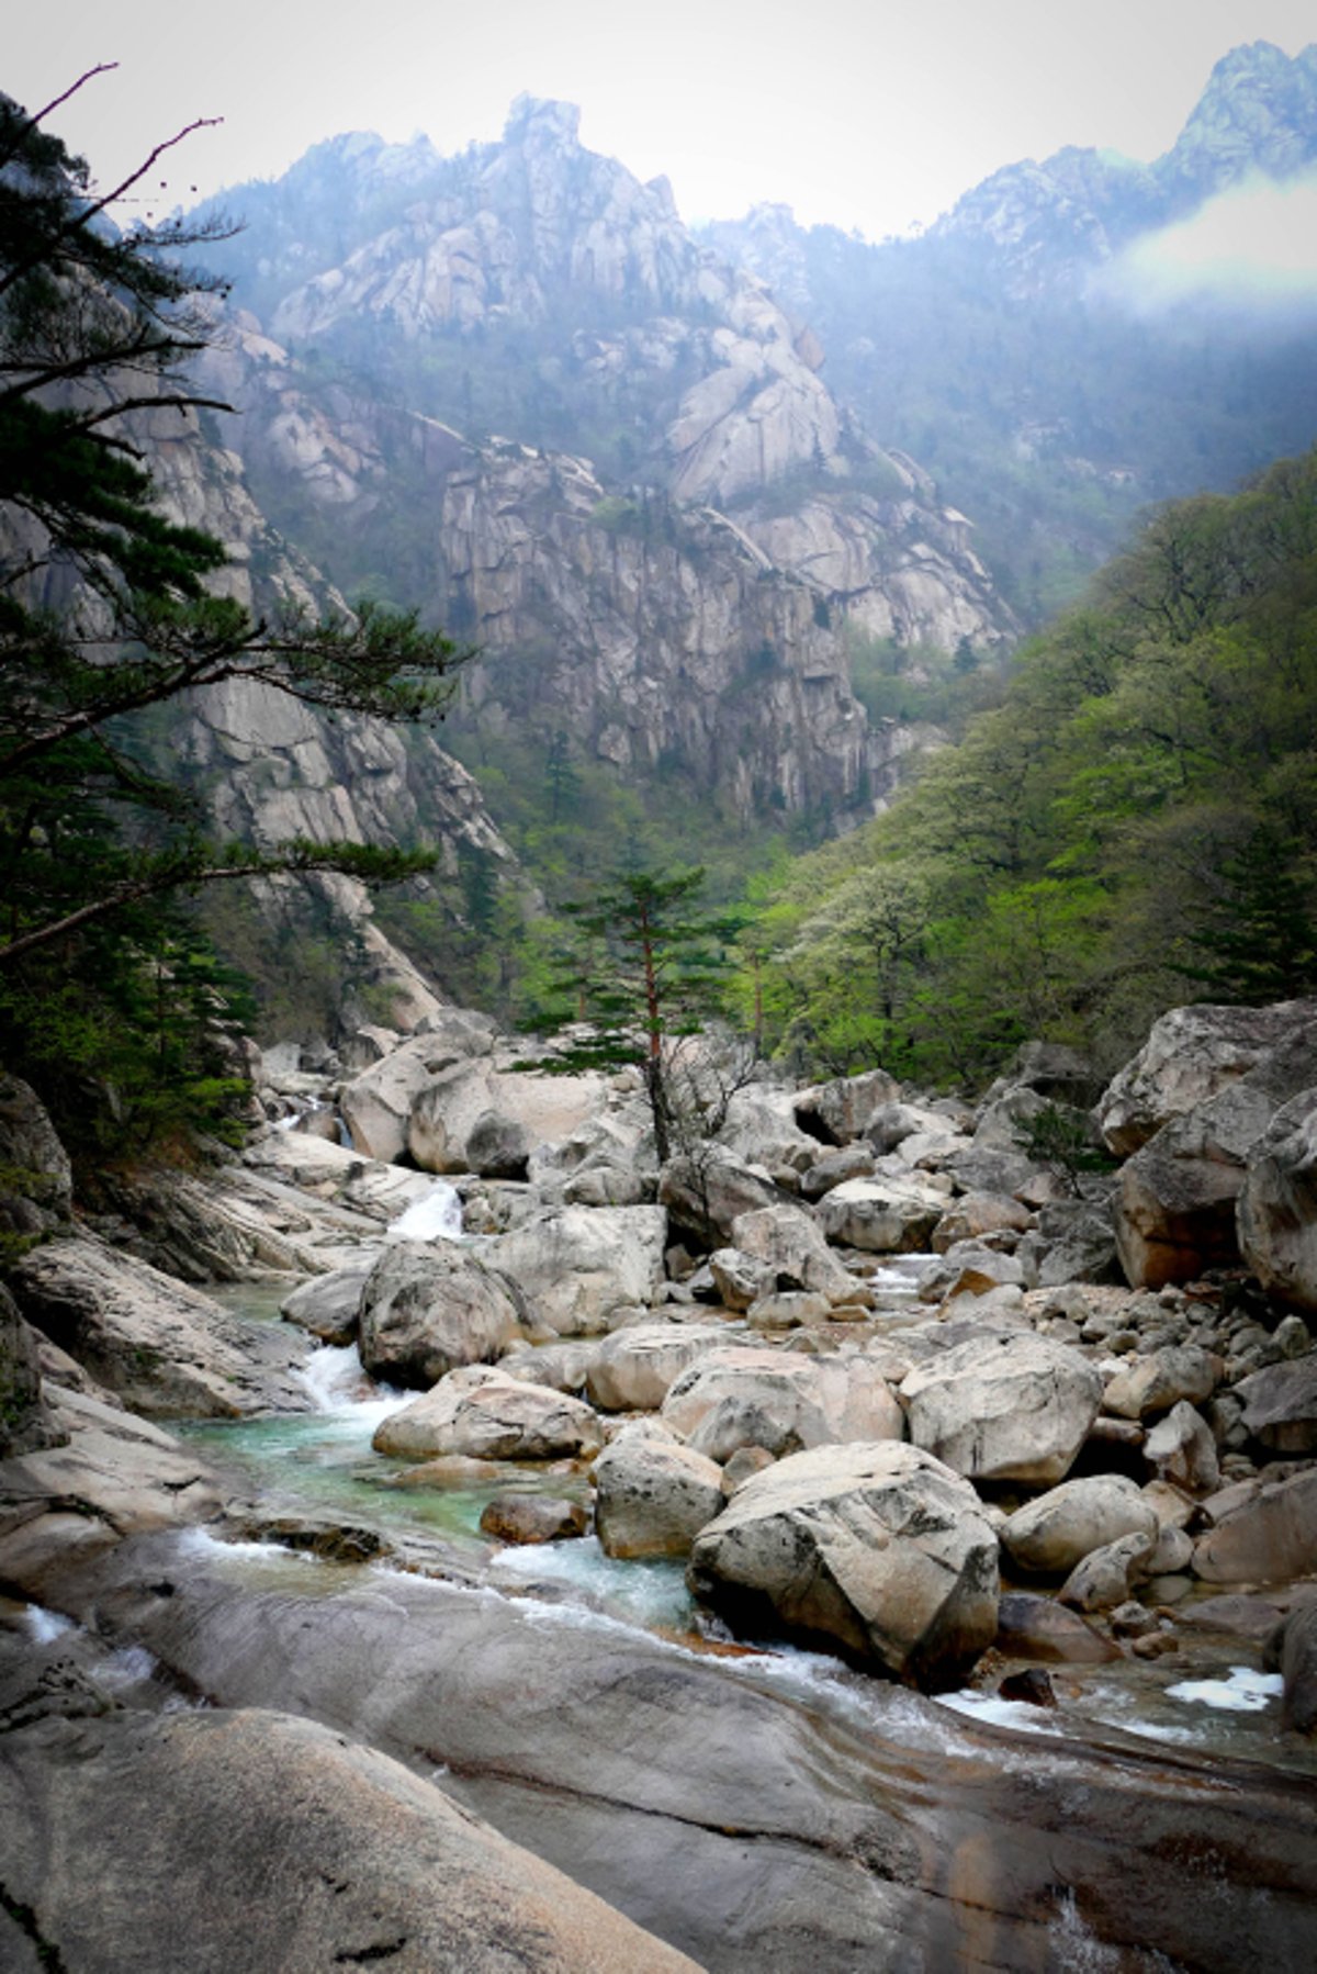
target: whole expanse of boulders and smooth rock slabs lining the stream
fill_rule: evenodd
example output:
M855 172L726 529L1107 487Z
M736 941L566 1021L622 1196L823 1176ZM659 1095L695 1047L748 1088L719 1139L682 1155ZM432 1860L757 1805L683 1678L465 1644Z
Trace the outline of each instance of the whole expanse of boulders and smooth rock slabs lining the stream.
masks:
M353 1899L385 1887L397 1927L357 1940L314 1907L286 1931L288 1883L330 1867L316 1788L280 1808L247 1781L274 1759L316 1769L344 1828L407 1814L423 1850L462 1836L480 1858L460 1871L492 1873L468 1885L517 1879L521 1858L553 1925L592 1927L507 1840L527 1846L711 1968L1301 1964L1317 1005L1179 1011L1106 1090L1037 1046L975 1107L881 1072L752 1086L725 1143L661 1169L626 1078L517 1060L458 1011L361 1030L336 1060L276 1056L241 1167L124 1184L99 1222L6 1086L0 1165L39 1175L10 1180L6 1218L43 1236L2 1305L0 1583L22 1603L0 1625L0 1786L32 1802L0 1871L12 1964L41 1942L67 1966L162 1964L128 1921L93 1948L85 1891L95 1871L136 1883L136 1824L115 1814L132 1777L194 1771L223 1860L215 1938L241 1925L251 1786L290 1830L284 1889L253 1907L280 1964L379 1958L383 1933L399 1966L450 1964L409 1903L419 1873L369 1842ZM1039 1163L1039 1119L1090 1115L1110 1175ZM438 1173L456 1242L432 1238ZM243 1325L199 1277L282 1279L288 1321ZM673 1646L545 1603L551 1571L509 1601L482 1587L507 1583L488 1556L235 1502L160 1421L308 1405L302 1332L415 1392L377 1427L381 1482L505 1482L482 1520L496 1554L577 1540L588 1502L620 1567L685 1565L695 1632ZM239 1534L330 1559L274 1581ZM77 1629L38 1640L57 1621L34 1607ZM774 1638L827 1656L774 1658ZM124 1688L134 1650L148 1670ZM1094 1729L1072 1706L1094 1666L1159 1690L1270 1668L1276 1771ZM910 1690L966 1678L1033 1700L1043 1731ZM458 1828L454 1802L502 1838ZM41 1881L41 1820L87 1848L81 1891ZM138 1889L150 1929L162 1887ZM472 1917L484 1893L462 1897L444 1938L504 1964ZM531 1964L555 1966L571 1954L543 1911ZM638 1940L612 1964L679 1964ZM168 1964L233 1964L205 1952Z

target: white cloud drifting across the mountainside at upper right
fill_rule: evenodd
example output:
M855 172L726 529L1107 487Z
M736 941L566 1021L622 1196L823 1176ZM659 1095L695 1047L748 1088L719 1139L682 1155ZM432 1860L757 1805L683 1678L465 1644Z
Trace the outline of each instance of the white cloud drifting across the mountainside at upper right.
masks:
M1252 178L1125 247L1094 290L1139 316L1317 316L1317 176Z

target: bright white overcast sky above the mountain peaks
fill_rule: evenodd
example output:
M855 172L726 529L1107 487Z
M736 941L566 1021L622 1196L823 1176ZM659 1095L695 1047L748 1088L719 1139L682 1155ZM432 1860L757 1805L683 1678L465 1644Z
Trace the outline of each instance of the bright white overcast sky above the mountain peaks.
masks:
M494 138L529 89L685 219L784 199L877 239L1062 144L1157 156L1258 39L1317 39L1313 0L59 0L10 22L0 89L38 109L118 61L53 118L103 186L223 116L162 160L166 211L340 130Z

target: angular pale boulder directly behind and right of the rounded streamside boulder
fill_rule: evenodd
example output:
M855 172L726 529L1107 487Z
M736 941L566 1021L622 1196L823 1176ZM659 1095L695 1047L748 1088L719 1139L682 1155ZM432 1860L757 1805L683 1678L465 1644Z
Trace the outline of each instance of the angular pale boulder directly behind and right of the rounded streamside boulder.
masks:
M492 1242L488 1259L559 1336L588 1336L616 1309L654 1301L665 1244L661 1206L547 1206Z

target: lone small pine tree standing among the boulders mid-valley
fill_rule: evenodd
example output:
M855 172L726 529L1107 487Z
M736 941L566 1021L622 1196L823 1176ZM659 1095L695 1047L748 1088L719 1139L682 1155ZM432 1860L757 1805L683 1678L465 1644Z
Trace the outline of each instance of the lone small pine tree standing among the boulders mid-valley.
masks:
M667 1163L681 1135L721 1127L731 1084L685 1060L705 1034L727 979L735 926L697 908L703 869L656 876L618 873L586 904L565 906L581 934L579 961L559 975L559 1021L588 1025L537 1068L555 1074L636 1066L646 1084L654 1143Z

